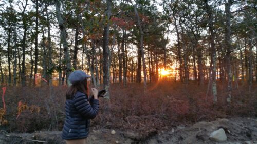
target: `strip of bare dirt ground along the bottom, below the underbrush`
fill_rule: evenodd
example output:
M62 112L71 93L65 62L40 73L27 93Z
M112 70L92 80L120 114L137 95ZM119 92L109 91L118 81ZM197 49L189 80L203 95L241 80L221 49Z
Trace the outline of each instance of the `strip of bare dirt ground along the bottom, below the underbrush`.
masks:
M211 132L223 128L227 135L227 141L215 142L209 139ZM169 131L156 133L152 137L141 139L140 135L134 132L124 132L112 129L92 128L87 143L228 143L228 144L249 144L257 143L257 119L256 118L230 118L217 119L211 122L197 122L185 126L179 125ZM0 143L65 143L61 139L60 131L40 131L35 133L6 133L0 131Z

